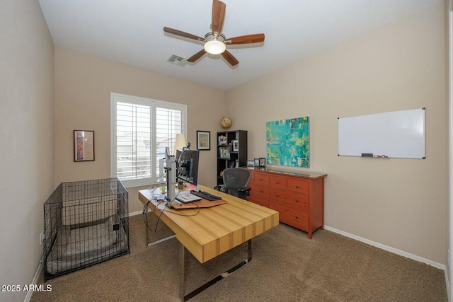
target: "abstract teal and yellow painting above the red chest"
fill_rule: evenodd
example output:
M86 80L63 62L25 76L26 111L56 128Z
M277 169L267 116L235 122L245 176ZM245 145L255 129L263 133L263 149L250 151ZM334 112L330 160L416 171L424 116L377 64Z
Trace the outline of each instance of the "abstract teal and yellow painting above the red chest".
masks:
M267 163L309 168L309 136L309 117L266 122Z

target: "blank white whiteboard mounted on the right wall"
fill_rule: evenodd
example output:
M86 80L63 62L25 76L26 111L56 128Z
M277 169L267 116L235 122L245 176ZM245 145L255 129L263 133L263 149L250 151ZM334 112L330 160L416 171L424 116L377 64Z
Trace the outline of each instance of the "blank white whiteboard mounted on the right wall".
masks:
M338 117L338 156L425 158L425 108Z

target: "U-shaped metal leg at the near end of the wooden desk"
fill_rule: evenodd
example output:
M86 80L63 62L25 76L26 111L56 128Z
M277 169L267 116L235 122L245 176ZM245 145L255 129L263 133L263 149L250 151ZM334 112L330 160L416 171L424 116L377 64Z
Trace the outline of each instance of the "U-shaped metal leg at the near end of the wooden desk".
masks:
M228 277L230 274L233 274L236 272L237 269L240 269L244 265L246 265L248 262L251 262L252 260L252 240L248 240L248 247L247 247L247 259L243 260L243 262L239 263L238 265L231 267L231 269L228 269L226 272L219 274L219 276L215 277L211 281L208 281L206 284L200 286L199 288L195 289L195 291L192 291L190 294L187 294L184 296L185 293L185 258L184 258L184 245L181 243L181 252L180 252L180 262L181 262L181 281L180 281L180 297L181 301L188 301L190 298L193 298L197 294L200 294L202 291L210 287L211 285L217 283L218 281Z

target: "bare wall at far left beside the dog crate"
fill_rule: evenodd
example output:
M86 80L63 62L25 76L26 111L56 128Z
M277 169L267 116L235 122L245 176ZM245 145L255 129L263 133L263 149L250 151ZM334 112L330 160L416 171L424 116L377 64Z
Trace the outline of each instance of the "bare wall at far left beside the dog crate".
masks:
M54 190L54 45L38 1L1 1L0 41L0 284L23 286L42 257L42 203Z

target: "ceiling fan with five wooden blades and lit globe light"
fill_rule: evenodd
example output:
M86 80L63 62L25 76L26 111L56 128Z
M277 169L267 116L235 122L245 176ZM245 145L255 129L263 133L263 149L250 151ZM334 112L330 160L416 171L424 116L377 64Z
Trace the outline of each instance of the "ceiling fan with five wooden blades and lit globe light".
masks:
M192 35L190 33L185 33L180 30L173 28L164 27L165 33L171 33L173 35L179 35L180 37L187 37L188 39L193 39L197 41L204 42L203 49L200 52L197 52L192 57L188 58L187 61L194 63L197 59L200 59L206 53L210 54L221 54L222 57L228 62L231 66L236 66L239 64L239 61L226 50L226 45L239 45L239 44L252 44L264 42L264 34L257 33L254 35L241 35L239 37L231 37L226 39L222 34L222 26L224 24L225 17L225 8L226 4L219 0L212 1L212 22L211 22L211 32L205 35L205 38L198 37L197 35Z

